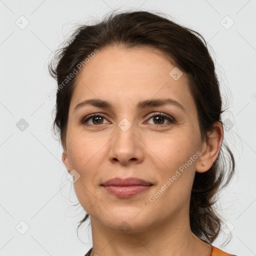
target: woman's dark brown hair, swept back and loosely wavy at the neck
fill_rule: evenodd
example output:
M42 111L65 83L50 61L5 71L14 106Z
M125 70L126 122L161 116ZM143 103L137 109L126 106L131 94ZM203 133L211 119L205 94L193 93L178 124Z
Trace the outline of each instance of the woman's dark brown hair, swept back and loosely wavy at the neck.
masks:
M222 101L213 60L204 38L196 31L179 25L149 11L126 11L106 15L101 22L80 25L58 49L48 65L52 77L60 84L77 65L95 49L120 45L123 47L150 46L170 57L189 81L189 89L196 104L202 139L208 139L214 122L221 121ZM65 147L69 103L74 78L59 87L56 94L53 130ZM229 157L228 169L223 149ZM216 212L216 195L230 181L234 173L234 157L222 141L219 154L209 170L195 173L190 198L190 228L200 239L212 243L220 232L221 217ZM226 180L224 179L226 174ZM89 217L79 222L78 227Z

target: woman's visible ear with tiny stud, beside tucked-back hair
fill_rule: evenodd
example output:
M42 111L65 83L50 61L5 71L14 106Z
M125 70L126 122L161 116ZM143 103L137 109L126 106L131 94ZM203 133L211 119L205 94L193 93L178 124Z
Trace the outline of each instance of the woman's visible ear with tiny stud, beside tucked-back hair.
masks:
M202 143L201 155L195 166L197 172L207 171L217 158L223 139L222 124L219 121L215 122L212 131L207 132L207 136L207 141ZM202 163L204 163L204 166L202 166Z

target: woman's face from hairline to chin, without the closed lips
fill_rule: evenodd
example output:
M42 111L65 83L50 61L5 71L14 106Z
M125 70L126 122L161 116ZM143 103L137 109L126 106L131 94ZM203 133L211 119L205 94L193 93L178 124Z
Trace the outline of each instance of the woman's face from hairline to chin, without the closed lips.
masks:
M167 98L178 104L139 104ZM88 99L111 107L77 106ZM87 119L92 113L96 116ZM141 231L188 216L202 146L196 107L185 74L160 51L99 50L76 76L65 142L62 160L68 171L79 173L74 189L91 221ZM151 185L124 197L102 185L116 177Z

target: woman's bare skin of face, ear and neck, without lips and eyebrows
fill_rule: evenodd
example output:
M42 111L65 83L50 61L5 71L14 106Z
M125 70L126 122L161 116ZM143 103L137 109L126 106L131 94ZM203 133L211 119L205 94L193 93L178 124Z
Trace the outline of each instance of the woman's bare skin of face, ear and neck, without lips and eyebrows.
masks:
M90 215L93 250L91 255L200 255L209 256L209 244L190 230L189 200L195 171L207 171L220 150L223 131L216 122L202 141L196 106L183 73L174 80L169 72L175 65L161 51L149 47L100 49L76 76L70 101L62 161L68 172L80 177L73 183L76 196ZM138 101L172 98L185 110L167 104L137 110ZM113 109L74 107L85 99L110 101ZM152 113L164 113L171 123ZM98 113L87 123L80 120ZM118 123L126 118L131 126L123 131ZM166 125L166 124L169 125ZM165 124L165 125L164 125ZM169 177L199 151L201 154L174 182L149 201ZM205 165L202 166L202 163ZM113 177L138 177L153 184L130 198L118 198L102 184ZM119 226L127 222L126 231ZM96 253L96 254L95 254Z

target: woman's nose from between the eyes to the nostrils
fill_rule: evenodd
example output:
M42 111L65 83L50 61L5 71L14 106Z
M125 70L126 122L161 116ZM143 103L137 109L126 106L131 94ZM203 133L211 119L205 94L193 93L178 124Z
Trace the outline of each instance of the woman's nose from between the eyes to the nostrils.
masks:
M140 163L144 157L142 149L145 145L135 125L124 120L124 122L116 125L115 132L114 137L109 142L109 160L113 163L119 162L123 165Z

